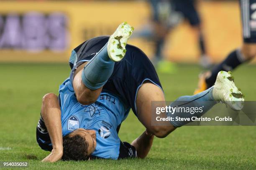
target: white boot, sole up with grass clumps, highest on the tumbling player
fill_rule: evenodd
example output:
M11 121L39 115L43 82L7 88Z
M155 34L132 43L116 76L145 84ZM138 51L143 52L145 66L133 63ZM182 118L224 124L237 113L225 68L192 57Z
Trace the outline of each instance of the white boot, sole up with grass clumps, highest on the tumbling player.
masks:
M124 22L118 26L108 40L108 56L111 60L118 62L125 56L125 45L131 37L134 28Z

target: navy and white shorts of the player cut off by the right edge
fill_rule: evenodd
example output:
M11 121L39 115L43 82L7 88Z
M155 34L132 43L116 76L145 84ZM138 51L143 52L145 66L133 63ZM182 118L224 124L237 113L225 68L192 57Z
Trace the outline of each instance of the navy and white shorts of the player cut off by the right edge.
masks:
M256 0L240 0L243 42L256 43Z

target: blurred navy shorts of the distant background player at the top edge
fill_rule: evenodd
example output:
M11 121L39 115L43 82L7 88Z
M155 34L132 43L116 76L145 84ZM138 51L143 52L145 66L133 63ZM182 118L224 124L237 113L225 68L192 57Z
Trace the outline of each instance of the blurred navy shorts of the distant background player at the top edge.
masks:
M172 0L174 10L182 13L183 17L189 20L190 25L200 25L200 16L195 7L195 0Z

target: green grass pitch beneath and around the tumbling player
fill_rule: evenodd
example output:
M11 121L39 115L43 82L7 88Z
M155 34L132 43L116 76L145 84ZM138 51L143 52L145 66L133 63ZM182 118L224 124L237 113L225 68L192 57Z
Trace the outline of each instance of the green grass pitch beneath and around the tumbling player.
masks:
M192 95L200 71L196 65L178 65L177 74L159 75L166 100ZM68 64L0 64L0 161L28 161L29 169L256 169L252 126L178 128L164 139L155 138L146 159L41 163L49 154L36 143L41 99L48 92L57 94L69 72ZM255 74L254 65L233 74L246 100L256 101ZM143 130L131 112L120 128L120 139L132 142Z

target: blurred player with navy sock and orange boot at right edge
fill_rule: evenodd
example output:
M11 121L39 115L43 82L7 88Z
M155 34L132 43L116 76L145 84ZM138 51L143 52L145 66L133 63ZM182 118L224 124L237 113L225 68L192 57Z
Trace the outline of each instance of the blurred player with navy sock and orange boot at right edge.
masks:
M231 51L219 65L200 75L195 94L214 85L218 72L231 71L256 55L256 0L240 0L243 45Z

